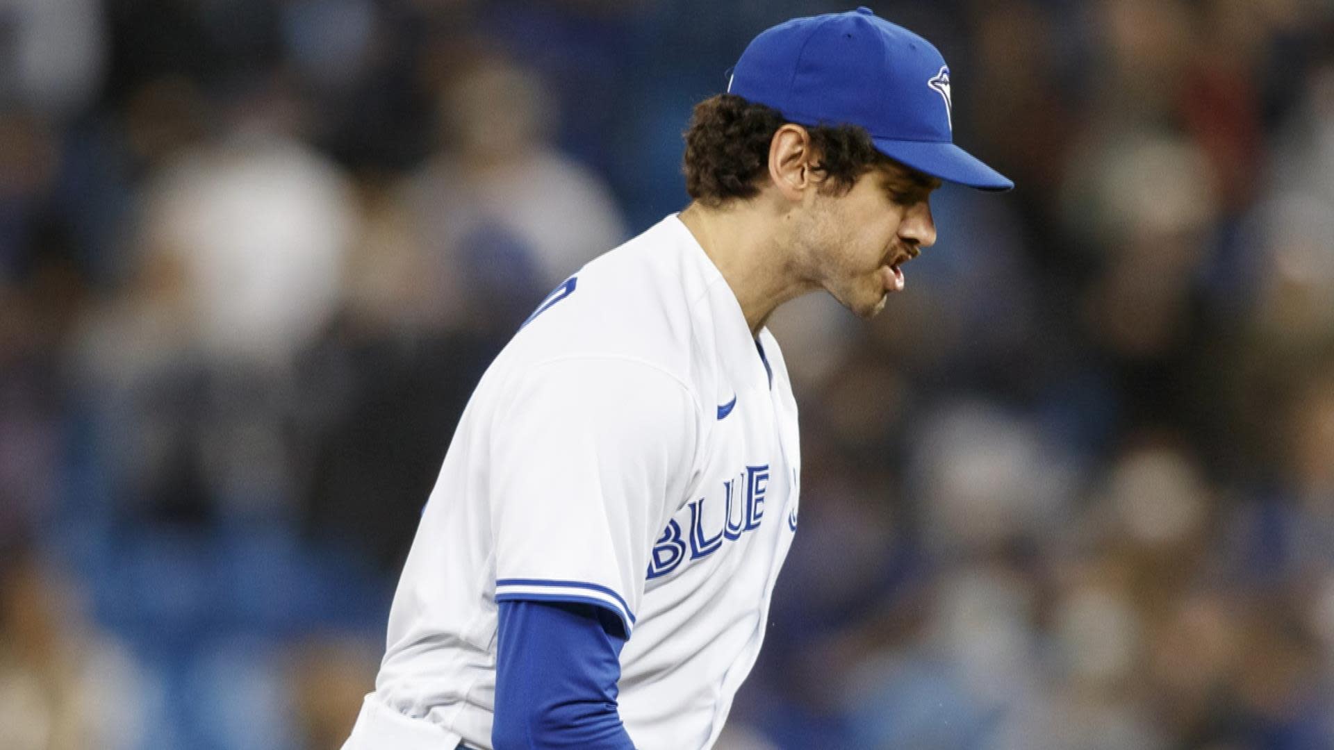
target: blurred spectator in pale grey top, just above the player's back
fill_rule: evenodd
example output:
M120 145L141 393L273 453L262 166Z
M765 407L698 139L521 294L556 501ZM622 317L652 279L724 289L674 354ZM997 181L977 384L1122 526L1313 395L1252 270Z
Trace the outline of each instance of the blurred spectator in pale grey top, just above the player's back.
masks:
M506 335L626 228L606 184L550 144L555 109L536 72L483 56L439 107L446 149L406 200L439 264L446 320Z

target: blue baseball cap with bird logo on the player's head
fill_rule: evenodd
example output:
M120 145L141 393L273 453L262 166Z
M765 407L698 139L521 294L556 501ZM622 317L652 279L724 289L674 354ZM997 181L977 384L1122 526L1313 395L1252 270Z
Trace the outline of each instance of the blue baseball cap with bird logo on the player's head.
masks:
M870 8L792 19L756 36L728 93L802 125L860 125L914 169L979 190L1014 183L954 144L950 67L930 41Z

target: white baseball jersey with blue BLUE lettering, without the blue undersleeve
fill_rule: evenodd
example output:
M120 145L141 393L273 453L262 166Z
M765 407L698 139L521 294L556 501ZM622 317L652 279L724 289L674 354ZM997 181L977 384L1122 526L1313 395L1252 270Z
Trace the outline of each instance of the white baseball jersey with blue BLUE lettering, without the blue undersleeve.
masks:
M778 343L686 226L592 260L474 392L347 747L490 749L506 599L615 610L635 746L711 747L764 637L799 467Z

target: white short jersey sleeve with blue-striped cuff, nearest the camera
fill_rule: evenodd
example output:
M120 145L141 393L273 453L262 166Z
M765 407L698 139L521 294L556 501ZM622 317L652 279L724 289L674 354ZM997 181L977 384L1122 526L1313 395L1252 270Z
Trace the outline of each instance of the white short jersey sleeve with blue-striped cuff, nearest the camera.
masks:
M655 538L684 499L698 407L638 360L570 358L510 390L490 435L496 602L583 602L630 637Z

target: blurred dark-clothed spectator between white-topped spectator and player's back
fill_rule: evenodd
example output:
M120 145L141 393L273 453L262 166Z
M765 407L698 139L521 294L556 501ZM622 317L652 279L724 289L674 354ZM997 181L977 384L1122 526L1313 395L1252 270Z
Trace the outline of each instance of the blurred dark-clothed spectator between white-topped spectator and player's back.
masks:
M316 536L396 573L472 388L542 292L506 292L515 294L508 308L448 327L442 310L456 300L411 212L390 190L364 203L342 307L300 358L300 510Z

